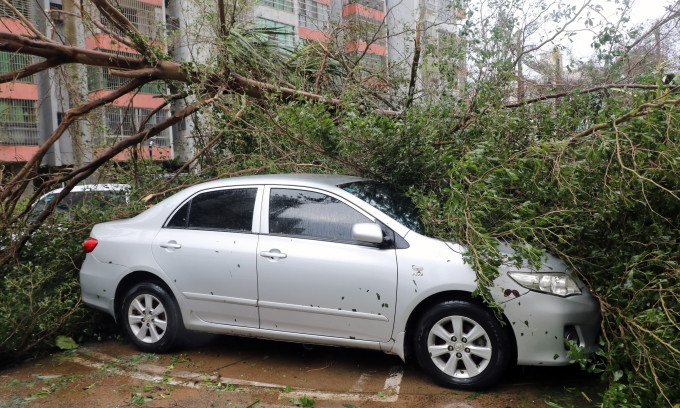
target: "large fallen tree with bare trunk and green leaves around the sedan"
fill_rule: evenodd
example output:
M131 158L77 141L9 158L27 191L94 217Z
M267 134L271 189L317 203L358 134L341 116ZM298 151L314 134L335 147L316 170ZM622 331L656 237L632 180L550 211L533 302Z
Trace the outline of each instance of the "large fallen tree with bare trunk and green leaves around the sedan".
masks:
M312 46L307 51L313 58L285 67L275 63L283 60L280 55L268 51L254 55L255 63L240 59L253 48L239 51L235 44L243 44L245 37L233 28L230 8L221 2L217 57L207 66L170 60L161 48L141 41L134 25L115 8L103 0L94 4L126 33L121 39L140 57L102 56L55 44L37 30L28 36L0 34L0 50L44 58L2 80L66 63L107 67L130 78L110 95L67 111L50 142L87 112L153 80L176 84L168 103L187 98L187 104L164 122L140 126L136 134L108 146L92 162L54 174L52 183L66 183L68 192L94 172L134 180L138 177L110 159L200 111L205 123L197 125L200 144L190 162L200 163L202 174L190 174L184 182L280 171L349 172L390 181L410 190L431 234L467 245L468 260L481 283L496 273L498 239L512 241L535 262L541 251L554 252L589 284L603 307L601 355L588 360L577 349L573 352L586 369L603 373L608 386L604 405L672 406L679 401L674 385L680 366L678 87L677 82L664 83L665 72L649 58L655 52L654 41L650 42L655 33L677 29L677 4L635 38L616 31L617 24L603 27L603 33L616 35L597 37L598 49L605 50L599 64L575 67L583 77L560 81L556 80L562 74L553 66L555 72L546 75L554 83L544 85L526 74L526 67L540 68L538 54L554 37L532 45L528 40L532 30L545 22L544 17L555 17L563 25L553 34L565 34L589 2L582 8L565 7L557 15L537 11L522 20L507 12L524 10L521 1L509 8L506 2L492 1L494 12L469 14L479 20L464 23L449 49L415 44L421 57L407 60L411 74L394 84L396 89L405 86L401 99L394 96L399 95L396 90L376 90L362 82L332 42ZM426 42L427 37L418 38ZM468 70L463 87L457 76L462 63ZM427 74L433 64L438 65L440 78L448 81L438 82L436 98L427 99L425 81L416 76ZM345 75L341 87L322 80L337 75ZM48 147L43 145L41 154ZM8 230L25 217L27 204L19 198L36 177L41 160L35 156L3 183L0 201ZM139 172L154 172L149 163L139 166L148 167ZM156 183L135 197L152 203L178 188ZM136 203L128 211L143 208ZM88 223L127 214L92 214L74 224L73 235L86 234ZM11 322L2 326L35 327L37 320L27 316L42 316L60 326L42 332L4 332L6 338L0 341L4 355L29 352L60 330L78 333L82 325L75 317L90 316L79 308L74 289L78 245L68 239L50 242L54 236L39 226L45 225L43 221L49 224L49 211L21 230L25 234L14 241L18 245L13 250L3 252L3 291L20 293L21 300L8 299L32 308L12 314L8 306L3 312ZM21 251L26 243L33 249ZM37 243L52 249L61 245L64 253L53 251L60 255L46 262L49 249L36 251ZM70 276L70 284L57 285L60 274ZM27 280L40 284L31 286ZM57 295L50 295L61 306L55 314L31 302L38 293L50 293L44 290L50 285L58 288ZM94 334L92 327L96 326L88 326L89 335Z

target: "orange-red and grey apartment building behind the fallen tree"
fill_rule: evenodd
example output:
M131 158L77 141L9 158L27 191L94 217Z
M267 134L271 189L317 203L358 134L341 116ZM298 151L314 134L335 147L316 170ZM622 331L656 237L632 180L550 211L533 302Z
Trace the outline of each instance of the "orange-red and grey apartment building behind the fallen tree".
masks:
M69 23L67 14L72 0L10 0L46 35L66 38L76 45L111 54L135 55L135 51L115 41L94 25L84 27L80 20ZM406 77L410 72L416 21L424 11L428 41L451 42L452 21L460 18L453 0L249 0L237 2L242 7L239 19L251 26L276 28L272 40L293 49L304 42L330 40L332 31L342 32L346 57L355 58L366 72L382 72L380 80ZM242 3L242 4L241 4ZM88 4L87 2L85 4ZM116 0L123 14L150 41L160 41L166 28L179 35L168 41L172 54L180 61L201 61L213 49L214 23L207 19L215 4L195 0ZM93 6L86 11L93 20L106 20ZM70 25L69 25L70 24ZM115 32L111 26L108 30ZM342 27L341 30L338 30ZM27 29L14 13L0 4L0 30L26 33ZM0 72L31 63L31 57L0 53ZM66 79L67 78L67 79ZM438 89L436 70L425 61L421 83ZM0 163L20 166L34 154L59 124L64 112L78 100L96 98L111 92L126 81L108 69L83 68L70 72L67 68L50 70L30 78L0 85ZM67 86L68 85L68 86ZM376 84L380 86L380 83ZM116 100L100 109L73 134L65 134L45 157L43 164L52 167L86 163L99 149L122 137L134 134L139 123L162 103L159 96L167 93L162 83L151 83L140 92ZM172 108L179 110L183 102ZM168 109L156 113L152 126L169 115ZM154 160L179 158L189 160L194 154L191 121L183 121L172 130L154 137L148 146L137 151L137 157ZM118 159L126 159L124 152Z

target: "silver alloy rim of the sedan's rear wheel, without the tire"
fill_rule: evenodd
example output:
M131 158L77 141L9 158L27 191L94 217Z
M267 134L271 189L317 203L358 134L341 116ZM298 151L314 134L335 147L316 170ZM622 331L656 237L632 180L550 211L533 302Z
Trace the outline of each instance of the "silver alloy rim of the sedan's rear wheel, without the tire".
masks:
M130 302L128 325L139 341L149 344L160 341L168 328L163 303L148 293L138 295Z

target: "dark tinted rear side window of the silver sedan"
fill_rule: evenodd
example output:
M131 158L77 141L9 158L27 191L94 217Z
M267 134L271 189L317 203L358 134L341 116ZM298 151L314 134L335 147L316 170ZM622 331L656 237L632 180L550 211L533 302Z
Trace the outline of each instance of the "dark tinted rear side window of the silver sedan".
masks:
M251 231L256 188L208 191L185 203L166 227Z

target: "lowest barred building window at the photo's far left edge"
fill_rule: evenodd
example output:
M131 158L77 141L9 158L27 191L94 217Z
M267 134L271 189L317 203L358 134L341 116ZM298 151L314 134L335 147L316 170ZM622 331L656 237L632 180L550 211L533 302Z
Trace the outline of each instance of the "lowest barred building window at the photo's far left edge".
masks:
M36 101L0 99L0 144L37 145Z

